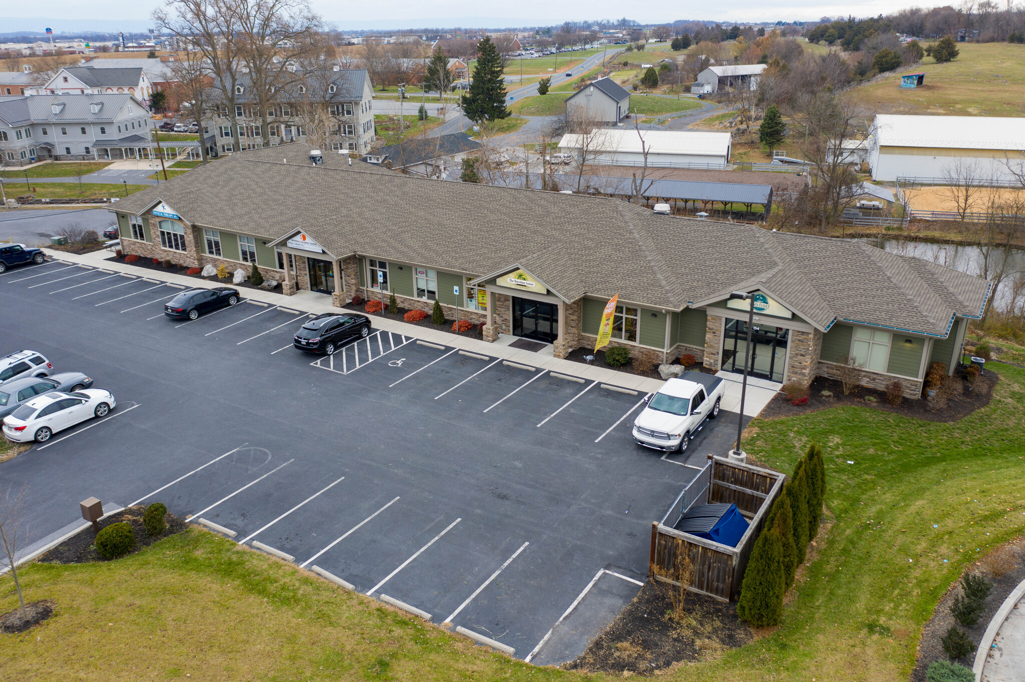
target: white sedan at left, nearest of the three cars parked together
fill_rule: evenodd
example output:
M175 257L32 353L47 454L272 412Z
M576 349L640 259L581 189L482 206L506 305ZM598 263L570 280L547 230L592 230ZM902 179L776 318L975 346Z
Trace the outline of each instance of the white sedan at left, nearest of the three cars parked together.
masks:
M3 434L14 442L46 442L57 431L106 417L117 404L114 394L101 388L73 393L51 391L29 400L3 420Z

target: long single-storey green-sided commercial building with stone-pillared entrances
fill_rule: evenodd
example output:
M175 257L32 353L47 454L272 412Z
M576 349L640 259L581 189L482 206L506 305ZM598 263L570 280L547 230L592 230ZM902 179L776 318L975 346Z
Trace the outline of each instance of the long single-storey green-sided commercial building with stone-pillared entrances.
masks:
M853 358L862 383L900 381L908 397L930 363L952 371L989 295L982 280L861 242L439 182L338 155L314 165L309 154L247 152L121 200L110 210L122 249L190 266L255 264L283 293L329 293L335 306L356 294L423 310L439 301L449 318L458 307L484 324L488 341L531 338L559 357L593 348L618 294L613 345L730 372L743 369L748 315L730 293L752 292L754 376L807 383Z

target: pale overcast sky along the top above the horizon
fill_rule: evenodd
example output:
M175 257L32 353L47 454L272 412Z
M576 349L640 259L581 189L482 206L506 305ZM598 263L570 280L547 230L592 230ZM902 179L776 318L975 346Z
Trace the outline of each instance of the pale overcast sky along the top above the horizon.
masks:
M48 16L63 19L146 20L162 4L159 0L47 0L45 3L7 0L0 9L0 27L6 17ZM519 0L512 3L467 3L464 0L372 0L338 3L312 0L325 19L345 28L366 22L422 20L426 25L455 26L460 18L493 18L500 25L557 24L567 19L600 19L627 16L641 23L669 23L673 19L715 19L724 22L816 20L821 16L853 13L873 16L911 5L911 0L867 0L828 2L823 0L730 0L726 3L613 2L612 0ZM927 5L932 3L925 3ZM20 30L20 22L17 23ZM2 29L0 29L2 31Z

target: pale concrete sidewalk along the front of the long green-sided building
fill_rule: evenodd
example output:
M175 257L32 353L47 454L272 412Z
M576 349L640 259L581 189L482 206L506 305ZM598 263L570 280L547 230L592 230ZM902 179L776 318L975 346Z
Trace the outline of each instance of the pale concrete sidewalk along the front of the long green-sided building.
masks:
M69 254L64 251L51 251L49 249L44 249L44 251L52 258L73 263L80 263L82 265L89 265L91 267L99 267L114 272L128 272L138 276L157 279L162 282L184 287L202 286L195 278L176 274L174 272L155 272L150 269L119 263L114 260L107 260L111 257L109 251L93 251L92 253L82 255ZM243 291L243 296L247 299L269 303L271 305L278 305L283 308L300 310L302 312L318 314L321 312L332 312L338 310L338 308L331 305L330 296L318 294L316 292L299 291L294 296L285 296L284 294L277 294L259 289L245 289ZM590 367L580 363L574 363L573 360L562 359L550 354L520 350L501 342L488 343L478 339L458 336L456 334L452 334L451 332L432 330L397 319L388 319L377 315L370 315L370 317L373 321L375 329L385 332L402 334L403 336L413 337L428 343L437 343L450 348L458 348L468 352L481 353L482 355L500 357L510 363L529 365L530 367L581 377L590 381L600 381L602 383L612 384L622 388L629 388L643 393L653 393L661 388L662 384L665 383L660 379L639 377L626 372L616 372L614 370ZM729 375L729 373L721 373L721 375L727 377L728 379L727 391L723 399L722 408L729 412L739 412L740 383L730 380L734 375ZM772 395L775 394L775 391L755 385L755 381L758 380L748 379L747 399L744 402L744 414L748 417L756 417L772 398Z

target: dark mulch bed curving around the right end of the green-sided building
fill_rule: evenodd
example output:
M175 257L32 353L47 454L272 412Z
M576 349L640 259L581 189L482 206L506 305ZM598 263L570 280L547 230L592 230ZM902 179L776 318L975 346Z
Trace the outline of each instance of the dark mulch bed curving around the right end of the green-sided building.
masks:
M987 372L975 381L972 391L969 391L968 383L962 377L963 370L954 371L951 382L952 394L946 399L945 406L943 400L937 401L936 398L917 400L904 398L896 407L887 402L886 391L858 386L849 395L844 395L844 387L840 382L816 377L809 387L807 403L790 404L785 394L778 393L769 401L760 417L762 419L794 417L829 408L858 406L930 422L956 422L989 404L989 400L993 397L993 386L999 381L998 374ZM823 390L829 391L832 395L822 395ZM867 398L875 398L875 400Z

